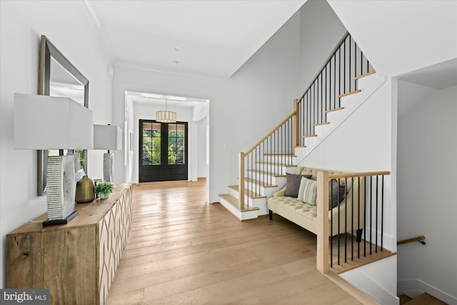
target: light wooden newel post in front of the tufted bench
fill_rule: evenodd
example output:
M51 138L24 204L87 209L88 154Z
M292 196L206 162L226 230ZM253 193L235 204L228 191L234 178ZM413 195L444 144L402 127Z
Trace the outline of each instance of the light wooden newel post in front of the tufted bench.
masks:
M317 263L321 273L330 270L328 261L328 171L317 172Z

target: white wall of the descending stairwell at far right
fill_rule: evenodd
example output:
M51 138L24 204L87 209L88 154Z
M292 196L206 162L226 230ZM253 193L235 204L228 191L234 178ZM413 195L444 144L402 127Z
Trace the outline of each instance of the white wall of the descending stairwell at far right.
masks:
M398 279L418 279L457 304L457 86L398 81Z

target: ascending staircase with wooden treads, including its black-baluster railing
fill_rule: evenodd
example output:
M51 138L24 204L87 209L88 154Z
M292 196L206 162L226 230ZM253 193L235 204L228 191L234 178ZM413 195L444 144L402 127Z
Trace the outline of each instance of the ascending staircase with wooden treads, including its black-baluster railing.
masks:
M363 104L384 79L346 33L293 112L239 157L238 181L219 195L239 220L268 214L267 199L286 184L308 154Z

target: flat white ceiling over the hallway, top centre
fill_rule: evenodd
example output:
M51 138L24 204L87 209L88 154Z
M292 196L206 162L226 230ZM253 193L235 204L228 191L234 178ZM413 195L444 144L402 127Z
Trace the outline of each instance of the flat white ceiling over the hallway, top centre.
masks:
M114 64L228 79L306 0L86 0Z

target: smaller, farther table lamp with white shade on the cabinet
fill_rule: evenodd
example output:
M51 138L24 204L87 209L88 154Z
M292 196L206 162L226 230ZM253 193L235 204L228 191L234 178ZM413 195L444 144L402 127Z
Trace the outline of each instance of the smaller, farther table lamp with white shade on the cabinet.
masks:
M103 177L113 182L114 155L110 150L122 149L122 129L115 125L94 125L94 149L106 149L103 156Z

